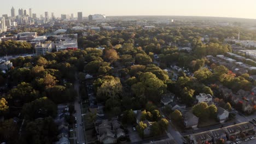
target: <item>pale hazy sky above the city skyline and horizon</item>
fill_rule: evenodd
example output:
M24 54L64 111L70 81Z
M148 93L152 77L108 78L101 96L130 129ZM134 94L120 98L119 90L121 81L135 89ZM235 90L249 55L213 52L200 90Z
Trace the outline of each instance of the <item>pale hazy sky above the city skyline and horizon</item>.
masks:
M18 9L32 8L39 17L44 11L61 14L83 12L115 15L184 15L221 16L256 19L256 0L0 0L0 15L10 15L13 6Z

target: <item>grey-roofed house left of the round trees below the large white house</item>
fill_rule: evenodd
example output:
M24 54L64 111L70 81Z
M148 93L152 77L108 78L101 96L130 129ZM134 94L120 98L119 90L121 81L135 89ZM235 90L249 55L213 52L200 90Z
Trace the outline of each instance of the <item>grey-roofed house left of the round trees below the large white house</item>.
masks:
M183 115L184 125L186 128L195 128L197 127L199 118L193 115L191 112L187 112Z

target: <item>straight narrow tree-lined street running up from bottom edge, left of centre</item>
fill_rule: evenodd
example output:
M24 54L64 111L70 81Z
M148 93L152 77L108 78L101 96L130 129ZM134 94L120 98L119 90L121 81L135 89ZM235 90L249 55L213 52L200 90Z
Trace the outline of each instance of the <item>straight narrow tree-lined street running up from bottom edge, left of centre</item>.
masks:
M84 129L83 126L80 125L82 123L82 110L81 105L79 104L80 101L80 95L79 95L79 80L77 77L77 74L75 75L75 82L74 82L74 89L77 91L78 97L74 101L74 108L75 108L75 114L74 116L77 117L77 128L75 128L75 131L77 133L77 142L79 143L85 143L84 139Z

